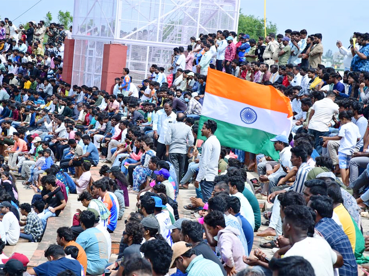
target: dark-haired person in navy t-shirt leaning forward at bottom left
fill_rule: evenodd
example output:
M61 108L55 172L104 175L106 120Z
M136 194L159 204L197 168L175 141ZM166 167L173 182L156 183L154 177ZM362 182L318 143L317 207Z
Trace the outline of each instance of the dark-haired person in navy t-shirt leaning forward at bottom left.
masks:
M27 272L37 276L57 276L60 272L66 269L71 270L74 275L81 275L81 265L78 261L65 257L65 252L62 246L51 244L45 250L45 258L48 262L28 268Z

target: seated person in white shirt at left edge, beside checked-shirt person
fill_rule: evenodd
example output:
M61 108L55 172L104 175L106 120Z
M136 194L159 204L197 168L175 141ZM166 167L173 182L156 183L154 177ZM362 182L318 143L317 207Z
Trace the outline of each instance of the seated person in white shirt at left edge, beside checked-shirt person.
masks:
M18 243L20 227L17 217L10 211L10 208L10 202L3 201L0 203L0 211L4 214L2 224L5 231L6 244L15 245Z

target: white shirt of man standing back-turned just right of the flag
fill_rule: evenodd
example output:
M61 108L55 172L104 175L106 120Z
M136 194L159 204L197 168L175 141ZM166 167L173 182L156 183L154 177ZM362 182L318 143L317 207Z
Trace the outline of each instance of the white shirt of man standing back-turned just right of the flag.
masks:
M313 117L309 121L309 129L325 132L328 131L328 124L332 120L334 113L338 113L338 105L330 98L324 98L314 103L312 110L314 110Z

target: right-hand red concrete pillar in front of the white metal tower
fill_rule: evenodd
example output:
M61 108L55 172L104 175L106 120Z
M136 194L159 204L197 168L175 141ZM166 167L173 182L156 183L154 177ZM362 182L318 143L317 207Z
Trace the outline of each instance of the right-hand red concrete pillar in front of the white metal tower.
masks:
M127 46L105 44L103 70L101 72L101 90L113 93L114 79L120 78L127 61Z

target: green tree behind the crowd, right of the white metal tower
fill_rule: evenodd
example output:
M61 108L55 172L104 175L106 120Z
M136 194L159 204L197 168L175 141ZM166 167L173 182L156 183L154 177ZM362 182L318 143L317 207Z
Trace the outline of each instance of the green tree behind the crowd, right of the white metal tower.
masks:
M277 25L266 21L266 35L268 33L277 34ZM254 15L245 15L241 11L238 18L238 33L248 33L250 38L254 38L258 42L258 36L265 36L264 18L259 18Z

